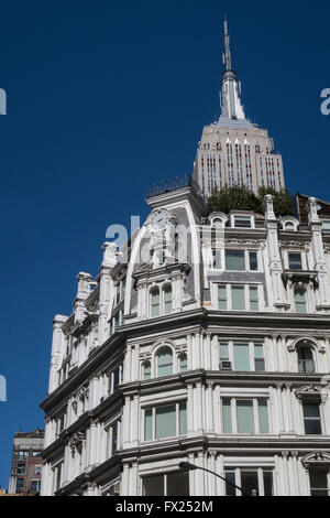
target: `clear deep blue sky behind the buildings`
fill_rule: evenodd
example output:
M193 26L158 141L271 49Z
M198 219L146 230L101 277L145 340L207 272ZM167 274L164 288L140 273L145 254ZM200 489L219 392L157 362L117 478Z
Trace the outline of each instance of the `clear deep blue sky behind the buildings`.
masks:
M330 4L12 1L1 6L0 485L16 431L43 427L55 313L97 273L112 223L145 217L147 187L191 172L219 116L227 12L248 116L267 128L292 193L330 199Z

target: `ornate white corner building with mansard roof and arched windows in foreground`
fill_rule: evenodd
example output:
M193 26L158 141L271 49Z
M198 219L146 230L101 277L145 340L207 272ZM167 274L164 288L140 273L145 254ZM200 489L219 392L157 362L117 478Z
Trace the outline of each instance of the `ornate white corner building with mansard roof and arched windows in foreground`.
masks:
M42 495L241 494L180 462L246 494L329 494L330 211L301 199L209 214L169 188L103 245L54 319Z

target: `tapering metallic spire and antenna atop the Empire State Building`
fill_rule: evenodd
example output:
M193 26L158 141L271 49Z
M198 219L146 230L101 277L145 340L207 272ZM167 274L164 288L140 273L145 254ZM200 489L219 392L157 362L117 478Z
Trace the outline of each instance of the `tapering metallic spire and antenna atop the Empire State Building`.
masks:
M235 72L231 66L230 37L228 22L224 18L224 51L223 64L226 71L222 73L222 88L220 94L221 119L245 120L245 114L240 99L240 87Z

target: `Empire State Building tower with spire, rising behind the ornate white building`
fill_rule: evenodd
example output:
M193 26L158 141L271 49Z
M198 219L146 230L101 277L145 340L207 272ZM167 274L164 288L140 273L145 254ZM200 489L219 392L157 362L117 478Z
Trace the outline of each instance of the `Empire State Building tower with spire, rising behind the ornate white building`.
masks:
M274 153L267 130L252 123L241 102L241 85L232 68L230 37L224 21L223 63L220 91L221 116L205 126L194 163L194 180L209 196L226 185L246 185L257 194L260 187L285 187L282 155Z

